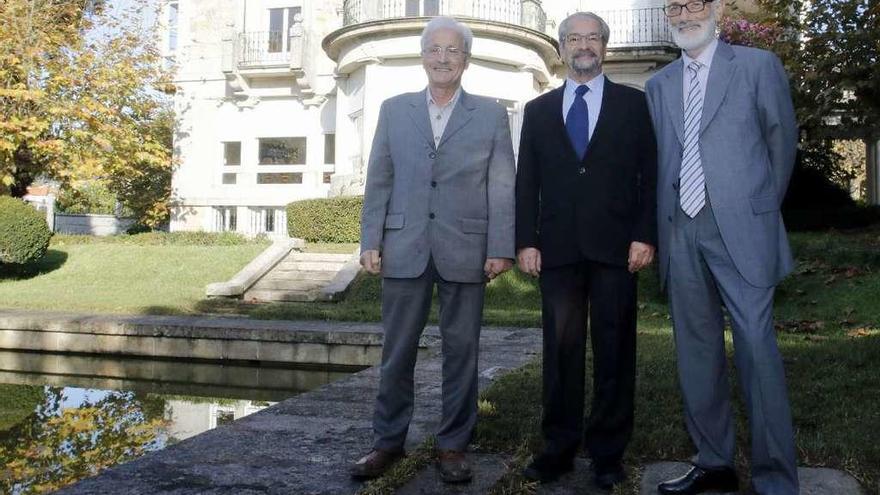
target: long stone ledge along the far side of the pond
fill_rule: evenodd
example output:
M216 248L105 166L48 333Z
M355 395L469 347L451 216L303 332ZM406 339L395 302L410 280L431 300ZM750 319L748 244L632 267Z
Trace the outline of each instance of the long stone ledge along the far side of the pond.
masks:
M7 350L372 366L382 341L378 324L0 311Z

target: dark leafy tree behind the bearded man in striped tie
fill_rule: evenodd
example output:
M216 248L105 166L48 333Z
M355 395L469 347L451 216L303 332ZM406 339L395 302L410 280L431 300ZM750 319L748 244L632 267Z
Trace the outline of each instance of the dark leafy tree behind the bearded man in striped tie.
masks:
M852 174L833 138L880 139L880 7L869 0L758 4L751 19L737 13L722 23L722 36L779 55L791 79L802 164L846 185Z

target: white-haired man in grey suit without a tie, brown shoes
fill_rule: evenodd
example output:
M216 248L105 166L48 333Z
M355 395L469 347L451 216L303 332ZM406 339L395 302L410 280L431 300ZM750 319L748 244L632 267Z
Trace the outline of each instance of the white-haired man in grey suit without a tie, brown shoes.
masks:
M436 285L443 341L437 467L472 477L464 456L477 421L477 353L487 279L514 257L514 161L507 111L461 89L473 36L448 17L422 33L428 87L382 104L361 217L361 264L381 273L385 342L373 450L351 468L384 473L403 455L413 367Z

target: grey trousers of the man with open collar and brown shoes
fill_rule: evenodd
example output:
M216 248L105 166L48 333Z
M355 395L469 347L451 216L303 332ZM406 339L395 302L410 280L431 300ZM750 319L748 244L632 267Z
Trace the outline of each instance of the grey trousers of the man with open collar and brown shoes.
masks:
M373 448L403 449L413 414L418 342L428 321L435 284L443 352L443 413L436 432L437 446L464 450L471 440L477 423L477 354L486 285L445 281L430 260L418 278L382 280L385 342L373 416Z

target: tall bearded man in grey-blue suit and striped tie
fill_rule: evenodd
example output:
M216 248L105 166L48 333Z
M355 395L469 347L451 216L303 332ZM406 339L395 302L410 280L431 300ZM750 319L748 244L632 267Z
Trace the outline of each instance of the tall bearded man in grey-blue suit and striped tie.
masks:
M723 7L723 0L667 0L684 53L646 87L659 159L660 276L669 292L685 420L697 449L692 469L659 491L737 489L724 306L750 421L752 489L796 494L773 292L793 265L780 205L797 125L779 59L716 38Z

